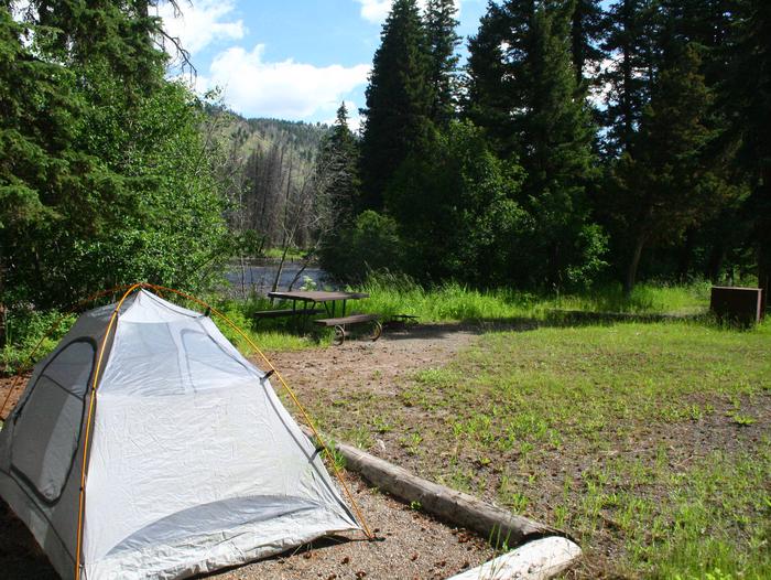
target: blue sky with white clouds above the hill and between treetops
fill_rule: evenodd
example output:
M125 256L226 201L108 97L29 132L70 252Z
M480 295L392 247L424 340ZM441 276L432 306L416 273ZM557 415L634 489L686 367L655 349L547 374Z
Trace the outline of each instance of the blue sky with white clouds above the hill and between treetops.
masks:
M458 33L466 37L476 32L487 1L456 3ZM247 117L330 122L340 100L354 116L365 105L367 75L391 0L193 0L181 6L181 15L169 4L160 15L191 52L199 92L220 87L225 104Z

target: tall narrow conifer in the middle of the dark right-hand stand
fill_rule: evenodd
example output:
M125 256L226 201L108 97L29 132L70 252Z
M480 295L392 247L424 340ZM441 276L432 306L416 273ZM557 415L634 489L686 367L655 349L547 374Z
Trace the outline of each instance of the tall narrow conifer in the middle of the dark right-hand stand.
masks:
M530 272L552 284L578 281L580 264L595 260L584 251L597 247L589 240L597 230L588 222L586 200L594 179L594 127L576 83L562 18L536 9L520 80L525 94L525 109L519 115L525 143L519 152L526 173L524 206L535 222L533 255L545 258Z

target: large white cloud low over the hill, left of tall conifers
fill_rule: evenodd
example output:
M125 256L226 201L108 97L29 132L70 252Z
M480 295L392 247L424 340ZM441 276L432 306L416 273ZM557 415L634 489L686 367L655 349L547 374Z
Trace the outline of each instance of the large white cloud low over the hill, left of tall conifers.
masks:
M270 63L264 50L258 44L251 52L234 46L219 53L205 85L221 87L225 103L248 117L305 120L334 115L350 90L367 83L368 64L314 66L292 58ZM198 88L203 85L199 82Z

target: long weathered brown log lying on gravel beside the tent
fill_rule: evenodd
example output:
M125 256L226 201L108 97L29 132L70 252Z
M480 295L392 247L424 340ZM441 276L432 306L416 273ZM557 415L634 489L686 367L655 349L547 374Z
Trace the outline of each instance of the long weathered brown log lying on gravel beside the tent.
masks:
M310 431L306 434L311 437ZM345 458L346 469L360 473L372 485L408 504L420 505L438 519L480 534L497 548L519 546L546 536L566 536L551 526L419 477L355 447L338 442L335 448Z

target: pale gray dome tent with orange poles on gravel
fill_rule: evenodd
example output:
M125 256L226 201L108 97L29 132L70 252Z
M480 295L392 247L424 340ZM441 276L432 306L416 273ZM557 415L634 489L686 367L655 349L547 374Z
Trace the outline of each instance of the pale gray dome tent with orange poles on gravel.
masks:
M109 331L87 434L115 310L78 319L0 431L0 495L62 578L186 578L361 529L268 375L144 289Z

